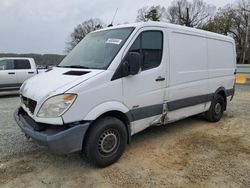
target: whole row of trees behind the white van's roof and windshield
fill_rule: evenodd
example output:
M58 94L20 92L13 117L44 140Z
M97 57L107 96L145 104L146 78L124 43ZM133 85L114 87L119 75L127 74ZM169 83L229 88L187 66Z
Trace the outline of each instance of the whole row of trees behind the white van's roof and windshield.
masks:
M235 39L237 63L250 63L250 1L237 0L216 8L203 0L173 0L169 7L145 6L137 11L136 22L161 21L229 35ZM99 18L78 24L66 44L70 52L89 32L107 27Z

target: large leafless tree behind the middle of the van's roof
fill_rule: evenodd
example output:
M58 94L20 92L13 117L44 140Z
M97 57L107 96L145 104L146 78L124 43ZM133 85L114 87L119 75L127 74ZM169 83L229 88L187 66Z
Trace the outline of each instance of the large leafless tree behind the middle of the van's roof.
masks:
M197 27L208 21L214 14L215 6L206 4L203 0L175 0L167 10L167 20L170 23Z

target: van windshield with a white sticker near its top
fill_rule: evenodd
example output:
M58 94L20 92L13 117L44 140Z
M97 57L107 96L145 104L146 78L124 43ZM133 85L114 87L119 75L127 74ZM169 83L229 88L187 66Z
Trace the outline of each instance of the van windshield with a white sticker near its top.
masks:
M58 67L107 69L133 30L129 27L90 33Z

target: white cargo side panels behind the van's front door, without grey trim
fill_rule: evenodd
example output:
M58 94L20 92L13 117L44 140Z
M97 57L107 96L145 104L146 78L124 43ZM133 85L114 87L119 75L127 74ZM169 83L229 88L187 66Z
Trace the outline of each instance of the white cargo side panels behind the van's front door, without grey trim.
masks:
M168 29L170 80L165 101L213 94L234 87L236 54L233 39L207 32ZM209 110L211 102L169 112L173 122Z

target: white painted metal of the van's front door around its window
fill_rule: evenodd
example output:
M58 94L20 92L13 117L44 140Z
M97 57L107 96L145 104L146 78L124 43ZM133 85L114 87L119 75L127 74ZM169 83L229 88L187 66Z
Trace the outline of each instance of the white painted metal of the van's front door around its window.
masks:
M137 31L134 35L133 40L127 46L124 51L126 55L129 48L132 46L134 40L143 31L154 30L154 27L145 27ZM162 31L165 34L164 28L157 28L157 30ZM166 34L165 34L166 35ZM164 35L164 36L165 36ZM166 37L164 37L165 39ZM165 55L165 53L164 53ZM165 56L162 57L162 62L165 62ZM137 75L127 76L122 78L123 81L123 100L127 104L129 109L150 106L154 104L162 104L164 98L164 82L156 82L157 77L161 76L166 78L165 71L166 63L161 63L160 66L153 69L140 71Z

